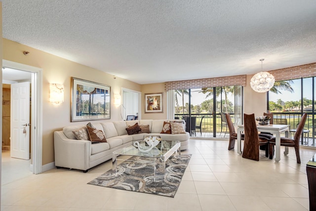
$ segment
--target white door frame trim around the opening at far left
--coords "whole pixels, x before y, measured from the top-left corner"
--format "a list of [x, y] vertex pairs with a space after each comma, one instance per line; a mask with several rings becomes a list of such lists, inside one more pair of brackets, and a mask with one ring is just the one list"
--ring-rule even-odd
[[[2, 67], [27, 71], [32, 73], [31, 80], [31, 164], [30, 171], [34, 174], [42, 170], [42, 69], [17, 62], [2, 60]], [[1, 69], [2, 74], [2, 69]], [[1, 82], [2, 83], [2, 82]], [[2, 116], [2, 115], [1, 115]], [[2, 154], [2, 152], [1, 152]]]

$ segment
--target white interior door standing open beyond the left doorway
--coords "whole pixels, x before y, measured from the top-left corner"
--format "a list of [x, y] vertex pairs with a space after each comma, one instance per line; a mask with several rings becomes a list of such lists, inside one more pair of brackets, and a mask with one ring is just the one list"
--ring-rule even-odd
[[30, 159], [30, 82], [11, 84], [12, 158]]

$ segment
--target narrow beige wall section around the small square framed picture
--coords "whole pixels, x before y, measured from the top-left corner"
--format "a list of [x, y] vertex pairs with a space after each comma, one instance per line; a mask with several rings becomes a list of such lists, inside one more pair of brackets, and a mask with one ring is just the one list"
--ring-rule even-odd
[[[167, 119], [167, 92], [164, 91], [164, 83], [143, 84], [142, 91], [142, 119], [143, 120], [162, 120]], [[145, 114], [145, 94], [162, 93], [162, 113], [146, 113]]]

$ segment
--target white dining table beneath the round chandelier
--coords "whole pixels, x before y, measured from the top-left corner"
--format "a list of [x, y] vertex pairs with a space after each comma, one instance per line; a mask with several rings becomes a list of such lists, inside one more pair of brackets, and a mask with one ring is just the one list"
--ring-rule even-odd
[[[290, 126], [288, 125], [257, 125], [257, 129], [260, 132], [270, 132], [276, 135], [276, 158], [275, 161], [280, 161], [281, 151], [281, 133], [285, 132], [285, 137], [288, 137]], [[241, 155], [241, 132], [244, 131], [243, 125], [237, 126], [237, 152]], [[288, 154], [288, 147], [285, 147], [284, 155]]]

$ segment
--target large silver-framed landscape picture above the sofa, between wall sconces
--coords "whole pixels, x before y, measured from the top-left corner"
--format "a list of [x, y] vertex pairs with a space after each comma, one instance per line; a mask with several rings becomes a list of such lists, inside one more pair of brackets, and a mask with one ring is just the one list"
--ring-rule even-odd
[[111, 86], [72, 78], [71, 121], [111, 119]]

